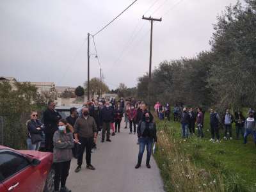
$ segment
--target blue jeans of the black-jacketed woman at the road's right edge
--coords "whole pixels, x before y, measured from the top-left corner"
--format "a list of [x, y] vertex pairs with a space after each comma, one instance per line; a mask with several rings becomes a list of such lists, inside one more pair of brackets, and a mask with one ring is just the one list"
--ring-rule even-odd
[[139, 156], [138, 156], [138, 164], [141, 164], [143, 153], [144, 153], [146, 146], [147, 146], [147, 161], [146, 161], [146, 163], [149, 164], [150, 157], [151, 157], [151, 151], [152, 151], [153, 139], [141, 137], [141, 138], [139, 138], [139, 143], [140, 143], [140, 151], [139, 151]]

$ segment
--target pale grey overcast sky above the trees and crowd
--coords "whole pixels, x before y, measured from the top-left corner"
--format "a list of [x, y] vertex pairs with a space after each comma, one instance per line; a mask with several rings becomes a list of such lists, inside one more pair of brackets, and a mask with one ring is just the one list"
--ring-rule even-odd
[[[96, 33], [133, 0], [1, 0], [0, 76], [78, 86], [87, 79], [87, 33]], [[179, 4], [177, 4], [179, 3]], [[209, 50], [212, 24], [236, 0], [138, 0], [95, 36], [104, 81], [136, 86], [148, 72], [150, 22], [154, 22], [152, 65]], [[148, 8], [150, 8], [148, 10]], [[90, 40], [90, 77], [100, 77]]]

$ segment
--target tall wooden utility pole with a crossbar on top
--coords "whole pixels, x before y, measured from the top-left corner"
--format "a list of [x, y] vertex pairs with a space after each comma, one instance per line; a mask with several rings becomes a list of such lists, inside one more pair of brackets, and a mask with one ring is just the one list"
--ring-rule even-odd
[[153, 36], [153, 21], [162, 21], [160, 19], [154, 19], [150, 17], [142, 16], [142, 19], [150, 20], [151, 22], [151, 33], [150, 33], [150, 52], [149, 52], [149, 72], [148, 72], [148, 109], [150, 110], [150, 85], [151, 85], [151, 66], [152, 66], [152, 36]]

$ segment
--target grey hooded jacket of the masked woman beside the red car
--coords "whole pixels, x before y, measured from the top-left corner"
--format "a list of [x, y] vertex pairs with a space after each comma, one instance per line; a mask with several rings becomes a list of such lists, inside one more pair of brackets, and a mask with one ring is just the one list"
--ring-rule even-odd
[[72, 148], [74, 147], [74, 138], [72, 132], [54, 132], [53, 146], [54, 163], [70, 161], [73, 157]]

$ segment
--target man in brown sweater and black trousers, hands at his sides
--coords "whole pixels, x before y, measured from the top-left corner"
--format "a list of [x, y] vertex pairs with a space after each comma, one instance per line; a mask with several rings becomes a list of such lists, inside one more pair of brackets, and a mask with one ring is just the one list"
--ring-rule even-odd
[[95, 170], [91, 163], [91, 152], [93, 141], [97, 140], [98, 129], [94, 118], [89, 115], [89, 109], [83, 108], [82, 112], [83, 117], [77, 118], [74, 125], [75, 142], [79, 143], [76, 173], [81, 170], [84, 149], [86, 150], [86, 168]]

